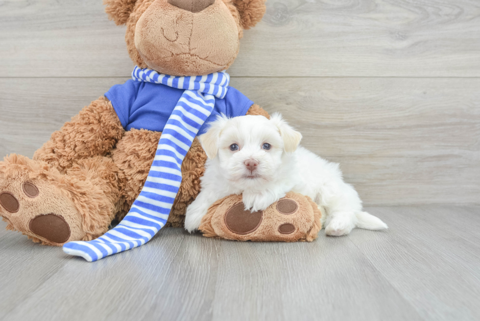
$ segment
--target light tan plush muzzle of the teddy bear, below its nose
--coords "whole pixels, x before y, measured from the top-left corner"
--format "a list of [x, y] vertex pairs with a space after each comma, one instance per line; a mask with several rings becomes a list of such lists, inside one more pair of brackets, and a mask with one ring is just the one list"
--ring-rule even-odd
[[134, 37], [148, 68], [176, 76], [225, 70], [237, 56], [239, 40], [238, 25], [222, 0], [155, 0], [137, 21]]

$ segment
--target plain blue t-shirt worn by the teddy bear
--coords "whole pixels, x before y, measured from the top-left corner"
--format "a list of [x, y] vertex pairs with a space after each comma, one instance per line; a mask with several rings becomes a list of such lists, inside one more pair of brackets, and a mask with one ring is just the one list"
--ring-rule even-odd
[[[184, 91], [162, 84], [130, 79], [122, 85], [114, 85], [105, 97], [112, 102], [125, 130], [135, 128], [162, 131]], [[207, 123], [215, 121], [220, 113], [228, 117], [243, 116], [251, 105], [253, 101], [229, 86], [225, 98], [215, 98], [215, 108], [200, 127], [198, 135], [203, 134]]]

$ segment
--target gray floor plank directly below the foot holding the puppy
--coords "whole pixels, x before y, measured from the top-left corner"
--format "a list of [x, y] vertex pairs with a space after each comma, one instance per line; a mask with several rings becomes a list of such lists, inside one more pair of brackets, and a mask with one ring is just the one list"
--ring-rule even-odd
[[346, 238], [223, 242], [213, 320], [421, 320]]

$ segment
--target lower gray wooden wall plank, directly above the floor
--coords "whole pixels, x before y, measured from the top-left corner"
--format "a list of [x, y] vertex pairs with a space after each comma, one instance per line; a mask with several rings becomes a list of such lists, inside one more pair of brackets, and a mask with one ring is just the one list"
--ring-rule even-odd
[[[126, 78], [0, 79], [0, 154], [33, 152]], [[232, 78], [303, 145], [339, 162], [365, 204], [479, 203], [479, 78]]]

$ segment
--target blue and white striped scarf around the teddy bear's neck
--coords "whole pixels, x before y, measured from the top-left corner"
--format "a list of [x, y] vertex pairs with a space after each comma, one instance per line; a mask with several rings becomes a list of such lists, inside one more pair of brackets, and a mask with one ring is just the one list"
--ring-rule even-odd
[[89, 262], [144, 245], [165, 225], [182, 181], [182, 161], [198, 130], [212, 113], [215, 97], [225, 97], [230, 81], [225, 72], [177, 77], [138, 67], [132, 78], [185, 91], [168, 118], [144, 187], [128, 214], [96, 240], [69, 242], [63, 246], [65, 253]]

